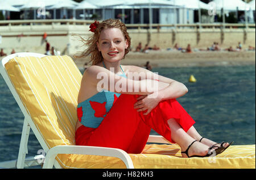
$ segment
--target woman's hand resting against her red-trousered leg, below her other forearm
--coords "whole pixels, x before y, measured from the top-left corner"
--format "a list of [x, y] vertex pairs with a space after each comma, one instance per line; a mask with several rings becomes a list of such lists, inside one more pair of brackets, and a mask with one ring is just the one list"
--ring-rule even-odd
[[141, 97], [137, 98], [138, 102], [134, 103], [134, 108], [138, 109], [138, 112], [147, 110], [147, 112], [143, 113], [143, 115], [149, 114], [151, 110], [154, 109], [161, 101], [161, 98], [157, 93], [158, 92], [142, 95]]

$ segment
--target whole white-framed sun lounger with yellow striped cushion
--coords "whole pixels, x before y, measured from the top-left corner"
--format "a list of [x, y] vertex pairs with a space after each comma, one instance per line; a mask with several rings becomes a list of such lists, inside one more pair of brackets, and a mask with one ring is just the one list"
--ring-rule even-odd
[[[69, 56], [15, 53], [3, 58], [0, 72], [24, 114], [18, 160], [3, 168], [255, 168], [255, 145], [232, 145], [216, 157], [182, 158], [180, 148], [150, 136], [141, 154], [75, 145], [77, 95], [82, 75]], [[26, 157], [30, 128], [43, 148]], [[43, 154], [46, 153], [44, 157]]]

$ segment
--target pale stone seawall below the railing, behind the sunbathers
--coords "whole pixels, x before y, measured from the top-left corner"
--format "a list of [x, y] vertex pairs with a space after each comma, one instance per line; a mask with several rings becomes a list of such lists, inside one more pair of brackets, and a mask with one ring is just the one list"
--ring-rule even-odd
[[[16, 52], [37, 52], [45, 53], [46, 43], [43, 39], [44, 32], [47, 33], [47, 40], [52, 47], [55, 47], [61, 54], [71, 55], [85, 49], [81, 41], [73, 34], [82, 37], [92, 35], [89, 26], [77, 24], [42, 24], [42, 25], [18, 25], [0, 26], [0, 48], [3, 48], [7, 55], [12, 49]], [[221, 48], [232, 46], [235, 48], [241, 42], [244, 48], [249, 45], [255, 47], [255, 28], [160, 28], [153, 29], [151, 34], [146, 29], [129, 29], [131, 47], [135, 49], [139, 42], [144, 46], [148, 43], [151, 47], [156, 44], [161, 49], [173, 48], [175, 43], [180, 47], [207, 48], [214, 41], [218, 42]]]

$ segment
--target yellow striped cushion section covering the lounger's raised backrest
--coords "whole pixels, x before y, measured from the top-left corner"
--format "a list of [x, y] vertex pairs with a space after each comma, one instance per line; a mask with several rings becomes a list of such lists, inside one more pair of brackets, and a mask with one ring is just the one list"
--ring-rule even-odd
[[[82, 75], [69, 56], [15, 57], [7, 73], [48, 148], [75, 145]], [[57, 158], [65, 164], [65, 155]]]

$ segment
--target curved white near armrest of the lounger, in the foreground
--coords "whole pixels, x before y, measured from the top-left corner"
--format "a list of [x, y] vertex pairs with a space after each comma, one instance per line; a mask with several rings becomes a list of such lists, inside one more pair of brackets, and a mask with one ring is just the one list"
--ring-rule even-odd
[[53, 167], [53, 163], [57, 154], [87, 154], [117, 157], [125, 163], [127, 169], [134, 169], [131, 157], [122, 149], [81, 145], [57, 145], [49, 149], [46, 154], [46, 161], [43, 165], [44, 169], [51, 169]]

